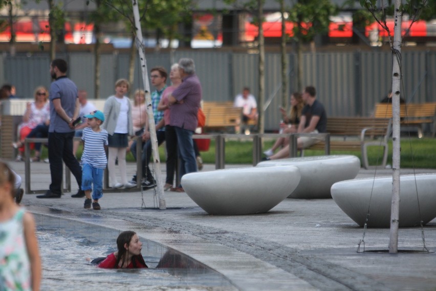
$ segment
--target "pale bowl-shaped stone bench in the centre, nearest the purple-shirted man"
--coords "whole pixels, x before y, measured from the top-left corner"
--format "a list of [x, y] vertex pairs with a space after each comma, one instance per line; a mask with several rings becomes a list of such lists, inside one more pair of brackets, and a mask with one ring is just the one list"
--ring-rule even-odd
[[225, 169], [182, 177], [186, 194], [213, 215], [265, 213], [286, 199], [300, 181], [293, 166]]

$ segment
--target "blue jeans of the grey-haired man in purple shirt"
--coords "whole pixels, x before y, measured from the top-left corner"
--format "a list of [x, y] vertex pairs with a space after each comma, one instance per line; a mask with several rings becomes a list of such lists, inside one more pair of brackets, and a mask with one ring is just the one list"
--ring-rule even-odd
[[180, 157], [180, 179], [183, 175], [197, 172], [197, 160], [195, 160], [194, 142], [191, 130], [174, 127], [177, 134], [177, 146]]

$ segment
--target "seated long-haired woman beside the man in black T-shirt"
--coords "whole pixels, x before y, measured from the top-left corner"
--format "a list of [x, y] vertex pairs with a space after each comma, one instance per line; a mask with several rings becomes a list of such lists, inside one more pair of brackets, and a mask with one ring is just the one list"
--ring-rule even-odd
[[[303, 98], [301, 93], [294, 92], [291, 95], [291, 110], [289, 111], [289, 115], [286, 115], [285, 109], [280, 107], [280, 113], [283, 116], [284, 123], [280, 124], [280, 131], [283, 133], [296, 133], [298, 129], [298, 123], [300, 123], [301, 111], [304, 107]], [[275, 150], [278, 148], [284, 148], [289, 144], [289, 138], [279, 137], [273, 147], [264, 152], [267, 157], [270, 157], [274, 154]]]

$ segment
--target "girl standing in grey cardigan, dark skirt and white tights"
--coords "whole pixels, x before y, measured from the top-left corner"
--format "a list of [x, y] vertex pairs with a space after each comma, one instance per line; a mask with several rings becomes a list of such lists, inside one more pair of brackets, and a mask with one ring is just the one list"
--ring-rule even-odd
[[[128, 145], [128, 136], [132, 136], [132, 105], [130, 100], [125, 96], [129, 88], [129, 82], [126, 79], [119, 79], [115, 82], [115, 95], [107, 98], [104, 103], [104, 128], [108, 140], [108, 160], [107, 169], [111, 179], [112, 188], [133, 188], [136, 185], [127, 182], [126, 173], [126, 148]], [[115, 160], [118, 158], [118, 167], [121, 174], [121, 183], [117, 181], [115, 175]]]

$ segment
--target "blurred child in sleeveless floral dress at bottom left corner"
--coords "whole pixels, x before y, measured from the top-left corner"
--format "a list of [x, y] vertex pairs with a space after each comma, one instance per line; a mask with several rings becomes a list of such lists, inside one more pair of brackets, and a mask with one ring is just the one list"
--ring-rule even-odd
[[15, 175], [0, 161], [0, 289], [38, 291], [41, 259], [32, 214], [15, 203]]

